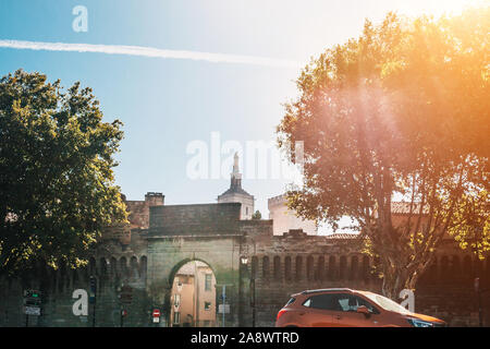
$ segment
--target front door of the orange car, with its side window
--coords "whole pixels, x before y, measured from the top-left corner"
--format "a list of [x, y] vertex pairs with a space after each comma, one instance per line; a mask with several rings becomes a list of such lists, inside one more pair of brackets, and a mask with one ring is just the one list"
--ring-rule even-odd
[[[338, 327], [377, 327], [379, 312], [372, 304], [368, 303], [364, 299], [351, 294], [351, 293], [338, 293], [335, 310], [332, 312], [332, 316], [336, 321]], [[334, 302], [335, 302], [334, 301]], [[360, 305], [367, 306], [371, 313], [366, 316], [365, 314], [357, 313], [357, 308]]]

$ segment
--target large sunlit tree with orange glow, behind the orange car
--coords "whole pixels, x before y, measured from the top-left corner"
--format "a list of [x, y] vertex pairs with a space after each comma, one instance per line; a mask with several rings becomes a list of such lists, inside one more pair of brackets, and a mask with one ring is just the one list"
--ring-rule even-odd
[[[291, 144], [304, 142], [290, 207], [357, 221], [392, 299], [415, 288], [448, 233], [464, 245], [473, 237], [461, 228], [478, 216], [488, 237], [489, 21], [489, 9], [367, 21], [359, 38], [306, 65], [278, 127], [291, 161]], [[405, 219], [393, 221], [393, 201], [405, 202]]]

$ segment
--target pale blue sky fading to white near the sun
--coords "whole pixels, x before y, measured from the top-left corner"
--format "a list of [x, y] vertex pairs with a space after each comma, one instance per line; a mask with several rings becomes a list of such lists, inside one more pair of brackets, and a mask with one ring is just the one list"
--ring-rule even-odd
[[[124, 123], [114, 172], [128, 200], [162, 192], [166, 204], [212, 203], [230, 180], [189, 178], [192, 142], [210, 145], [212, 132], [244, 146], [274, 141], [310, 57], [358, 36], [365, 19], [441, 15], [466, 2], [0, 0], [0, 76], [22, 68], [91, 87], [105, 121]], [[86, 32], [73, 28], [77, 5], [87, 10]], [[244, 177], [243, 186], [267, 218], [267, 198], [289, 182]]]

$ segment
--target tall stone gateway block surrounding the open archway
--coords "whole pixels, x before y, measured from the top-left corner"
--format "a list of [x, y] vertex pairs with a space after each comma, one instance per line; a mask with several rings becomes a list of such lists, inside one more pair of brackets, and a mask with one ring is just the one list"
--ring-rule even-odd
[[147, 291], [154, 302], [162, 304], [168, 324], [174, 322], [175, 275], [191, 261], [208, 265], [216, 278], [215, 324], [222, 325], [223, 320], [225, 325], [243, 324], [241, 305], [248, 294], [241, 291], [246, 273], [241, 267], [240, 215], [236, 203], [150, 207]]

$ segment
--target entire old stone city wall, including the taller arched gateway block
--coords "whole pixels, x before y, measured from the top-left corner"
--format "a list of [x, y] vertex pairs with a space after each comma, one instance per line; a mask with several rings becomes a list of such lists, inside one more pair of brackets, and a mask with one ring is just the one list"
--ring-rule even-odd
[[[257, 326], [273, 326], [290, 296], [307, 289], [381, 290], [381, 279], [372, 270], [376, 261], [360, 252], [362, 241], [353, 236], [307, 236], [302, 230], [273, 236], [272, 220], [241, 220], [241, 206], [233, 203], [163, 206], [158, 193], [131, 203], [131, 225], [107, 229], [86, 267], [52, 270], [39, 266], [23, 280], [1, 279], [0, 326], [26, 325], [22, 292], [28, 288], [44, 293], [42, 316], [29, 316], [29, 326], [91, 326], [93, 305], [87, 318], [72, 312], [73, 291], [88, 290], [90, 276], [98, 285], [96, 326], [121, 325], [118, 296], [122, 285], [134, 292], [123, 325], [154, 326], [150, 313], [159, 308], [163, 326], [170, 315], [173, 277], [193, 260], [213, 270], [216, 304], [221, 303], [225, 287], [231, 308], [225, 316], [228, 326], [252, 326], [254, 318]], [[482, 288], [490, 289], [489, 262], [475, 261], [445, 240], [436, 263], [417, 285], [416, 311], [450, 325], [478, 325], [476, 275], [481, 277]], [[488, 293], [482, 301], [485, 325], [490, 326]], [[217, 318], [221, 325], [221, 314]]]

